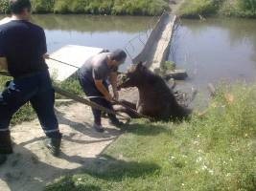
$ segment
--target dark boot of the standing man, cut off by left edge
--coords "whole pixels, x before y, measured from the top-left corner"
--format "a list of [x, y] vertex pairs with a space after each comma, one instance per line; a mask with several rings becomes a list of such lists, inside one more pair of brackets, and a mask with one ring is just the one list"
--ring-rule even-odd
[[4, 164], [8, 155], [12, 154], [12, 139], [9, 131], [0, 133], [0, 165]]

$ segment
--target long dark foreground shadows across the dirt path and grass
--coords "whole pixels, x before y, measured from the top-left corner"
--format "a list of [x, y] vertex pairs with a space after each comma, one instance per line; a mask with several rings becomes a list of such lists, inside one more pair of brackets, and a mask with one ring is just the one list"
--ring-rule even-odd
[[[45, 150], [48, 152], [48, 150]], [[46, 154], [48, 155], [48, 154]], [[152, 162], [126, 161], [114, 159], [110, 156], [99, 156], [98, 158], [83, 158], [80, 156], [69, 156], [61, 153], [60, 159], [73, 164], [79, 164], [74, 169], [65, 166], [56, 166], [51, 162], [46, 163], [39, 159], [31, 150], [14, 145], [14, 154], [9, 156], [8, 161], [1, 166], [0, 180], [6, 182], [7, 187], [12, 190], [41, 190], [49, 183], [61, 176], [62, 179], [47, 185], [47, 191], [100, 191], [101, 187], [84, 179], [80, 182], [72, 175], [80, 174], [90, 176], [95, 180], [109, 182], [121, 181], [125, 178], [139, 178], [155, 174], [160, 167]]]

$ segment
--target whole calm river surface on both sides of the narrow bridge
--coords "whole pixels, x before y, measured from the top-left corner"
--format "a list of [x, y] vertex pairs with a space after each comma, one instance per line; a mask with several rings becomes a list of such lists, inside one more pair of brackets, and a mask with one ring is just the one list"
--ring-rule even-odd
[[[0, 15], [0, 19], [3, 17]], [[45, 30], [49, 53], [72, 44], [109, 50], [126, 48], [131, 57], [143, 48], [156, 19], [145, 16], [33, 15], [33, 22]], [[254, 81], [256, 20], [184, 19], [175, 32], [169, 59], [175, 61], [177, 68], [186, 69], [190, 76], [188, 82], [199, 88], [221, 80]], [[129, 63], [130, 59], [121, 70], [125, 71]]]

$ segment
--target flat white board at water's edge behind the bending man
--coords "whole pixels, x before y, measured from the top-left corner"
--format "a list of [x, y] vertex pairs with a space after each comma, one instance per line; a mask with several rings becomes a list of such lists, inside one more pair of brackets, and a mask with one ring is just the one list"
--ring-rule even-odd
[[52, 77], [55, 80], [64, 81], [72, 74], [75, 74], [79, 70], [78, 68], [81, 68], [88, 58], [101, 53], [103, 50], [104, 49], [101, 48], [67, 45], [59, 49], [57, 52], [51, 53], [50, 57], [67, 64], [74, 65], [75, 67], [68, 66], [51, 59], [47, 59], [46, 63]]

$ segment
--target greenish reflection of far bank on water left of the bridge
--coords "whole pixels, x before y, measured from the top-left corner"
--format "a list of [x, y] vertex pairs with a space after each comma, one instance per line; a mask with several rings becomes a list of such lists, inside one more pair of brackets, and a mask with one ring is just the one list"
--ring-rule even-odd
[[33, 21], [45, 30], [74, 32], [142, 32], [150, 25], [151, 19], [147, 16], [33, 15]]

